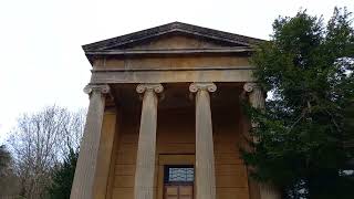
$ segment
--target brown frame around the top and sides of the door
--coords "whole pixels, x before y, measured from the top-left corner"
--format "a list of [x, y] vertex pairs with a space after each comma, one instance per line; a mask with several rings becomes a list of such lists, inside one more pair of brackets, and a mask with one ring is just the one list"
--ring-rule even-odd
[[[194, 154], [158, 155], [157, 199], [164, 199], [164, 175], [165, 175], [165, 166], [167, 165], [194, 165], [196, 169], [196, 156]], [[195, 185], [196, 185], [196, 181], [195, 181]], [[194, 187], [194, 190], [195, 190], [195, 187]]]

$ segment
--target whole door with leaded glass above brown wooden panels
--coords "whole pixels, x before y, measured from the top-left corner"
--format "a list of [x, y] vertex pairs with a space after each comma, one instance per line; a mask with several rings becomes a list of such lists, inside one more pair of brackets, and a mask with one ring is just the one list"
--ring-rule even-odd
[[192, 165], [166, 165], [164, 199], [194, 198], [195, 168]]

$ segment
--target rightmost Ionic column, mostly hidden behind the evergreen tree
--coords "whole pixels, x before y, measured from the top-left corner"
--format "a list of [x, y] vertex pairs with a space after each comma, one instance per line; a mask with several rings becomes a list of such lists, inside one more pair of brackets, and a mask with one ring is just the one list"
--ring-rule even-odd
[[[249, 102], [254, 108], [264, 108], [264, 94], [261, 87], [256, 83], [246, 83], [243, 90], [249, 93]], [[252, 123], [252, 127], [257, 124]], [[257, 137], [253, 137], [253, 142], [258, 142]], [[280, 192], [269, 184], [259, 182], [260, 199], [281, 199]]]

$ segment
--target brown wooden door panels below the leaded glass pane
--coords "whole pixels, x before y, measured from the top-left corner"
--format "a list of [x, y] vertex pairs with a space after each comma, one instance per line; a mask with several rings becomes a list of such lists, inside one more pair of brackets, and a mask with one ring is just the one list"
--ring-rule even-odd
[[192, 199], [192, 185], [165, 185], [164, 199]]

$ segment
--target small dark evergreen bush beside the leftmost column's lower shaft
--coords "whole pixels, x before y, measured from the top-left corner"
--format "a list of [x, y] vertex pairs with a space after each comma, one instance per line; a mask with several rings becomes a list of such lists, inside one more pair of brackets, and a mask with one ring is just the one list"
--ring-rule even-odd
[[53, 181], [49, 187], [51, 199], [70, 199], [79, 151], [70, 149], [64, 161], [53, 171]]

